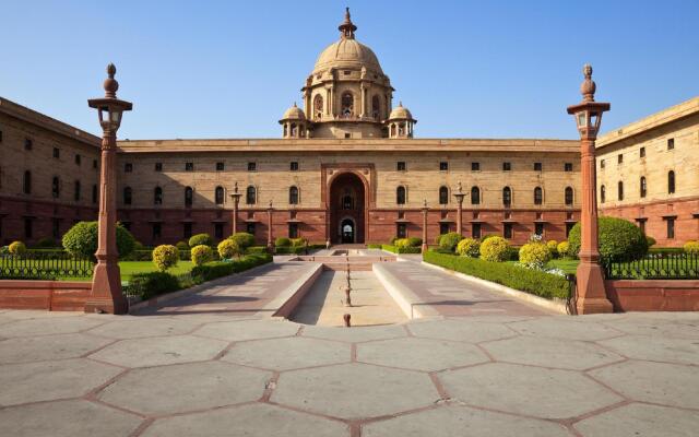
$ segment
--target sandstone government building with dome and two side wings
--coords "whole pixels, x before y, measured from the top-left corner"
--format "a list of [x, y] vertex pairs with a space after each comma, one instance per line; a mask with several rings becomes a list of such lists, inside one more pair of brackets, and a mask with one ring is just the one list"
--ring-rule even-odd
[[[430, 244], [453, 231], [516, 245], [532, 234], [566, 239], [580, 212], [578, 140], [416, 138], [417, 119], [393, 102], [394, 84], [348, 12], [339, 31], [300, 105], [279, 120], [280, 139], [118, 143], [118, 217], [137, 239], [249, 232], [260, 244], [270, 233], [386, 243], [422, 237], [424, 209]], [[96, 220], [99, 144], [0, 98], [0, 241], [58, 240]], [[661, 246], [699, 238], [699, 98], [597, 145], [604, 214], [635, 221]]]

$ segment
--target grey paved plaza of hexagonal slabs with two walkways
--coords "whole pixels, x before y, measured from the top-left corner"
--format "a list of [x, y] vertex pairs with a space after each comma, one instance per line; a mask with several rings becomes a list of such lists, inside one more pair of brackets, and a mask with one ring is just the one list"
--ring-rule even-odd
[[[391, 264], [443, 274], [418, 267]], [[697, 435], [699, 314], [550, 315], [450, 276], [441, 315], [395, 324], [257, 310], [301, 270], [135, 316], [1, 311], [0, 435]]]

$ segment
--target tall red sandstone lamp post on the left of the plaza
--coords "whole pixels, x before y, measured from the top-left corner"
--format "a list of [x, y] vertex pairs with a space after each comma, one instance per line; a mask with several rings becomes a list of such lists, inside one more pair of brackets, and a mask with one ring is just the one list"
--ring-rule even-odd
[[102, 126], [102, 169], [99, 172], [99, 218], [97, 236], [97, 265], [92, 279], [92, 292], [85, 303], [85, 312], [125, 314], [128, 303], [121, 293], [119, 252], [117, 251], [117, 130], [121, 115], [131, 110], [130, 102], [117, 98], [119, 83], [114, 79], [117, 68], [107, 66], [104, 98], [87, 101], [97, 109]]

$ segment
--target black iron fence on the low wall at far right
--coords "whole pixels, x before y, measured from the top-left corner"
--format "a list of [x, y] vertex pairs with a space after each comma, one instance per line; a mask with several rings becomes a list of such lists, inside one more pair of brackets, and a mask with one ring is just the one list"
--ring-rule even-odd
[[604, 261], [608, 280], [699, 280], [699, 255], [648, 253], [633, 261]]

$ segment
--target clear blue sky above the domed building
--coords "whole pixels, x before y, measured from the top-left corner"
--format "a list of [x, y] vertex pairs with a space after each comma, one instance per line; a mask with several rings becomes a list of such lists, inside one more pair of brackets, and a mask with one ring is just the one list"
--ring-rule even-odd
[[117, 64], [120, 138], [279, 138], [350, 5], [422, 138], [576, 138], [594, 67], [611, 130], [698, 95], [699, 1], [5, 1], [0, 96], [91, 132]]

